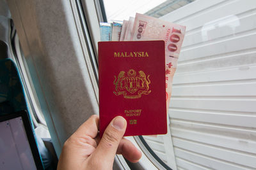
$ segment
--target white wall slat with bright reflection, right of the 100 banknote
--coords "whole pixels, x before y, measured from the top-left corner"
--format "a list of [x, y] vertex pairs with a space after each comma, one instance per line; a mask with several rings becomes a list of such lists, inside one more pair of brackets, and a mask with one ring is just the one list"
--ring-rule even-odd
[[196, 32], [186, 34], [182, 49], [188, 46], [199, 45], [205, 41], [212, 41], [219, 38], [230, 38], [230, 36], [238, 36], [241, 32], [255, 29], [254, 22], [256, 21], [255, 10], [246, 11], [241, 15], [229, 15], [205, 24], [202, 29]]

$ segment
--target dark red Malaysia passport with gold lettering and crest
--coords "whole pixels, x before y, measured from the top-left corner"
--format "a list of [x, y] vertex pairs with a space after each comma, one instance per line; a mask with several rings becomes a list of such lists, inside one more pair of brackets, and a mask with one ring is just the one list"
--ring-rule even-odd
[[99, 42], [100, 137], [116, 116], [124, 136], [167, 133], [164, 41]]

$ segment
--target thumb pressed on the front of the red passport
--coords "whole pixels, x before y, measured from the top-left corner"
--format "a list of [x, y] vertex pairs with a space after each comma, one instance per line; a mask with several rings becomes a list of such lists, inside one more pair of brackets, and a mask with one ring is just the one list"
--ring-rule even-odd
[[116, 150], [126, 129], [126, 120], [123, 117], [115, 117], [106, 128], [97, 149], [93, 153], [94, 159], [106, 162], [103, 167], [113, 166]]

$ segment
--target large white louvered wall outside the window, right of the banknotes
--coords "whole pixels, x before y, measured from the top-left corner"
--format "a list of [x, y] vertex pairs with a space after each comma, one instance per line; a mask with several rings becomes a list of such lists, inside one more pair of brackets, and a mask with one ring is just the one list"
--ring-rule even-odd
[[256, 169], [256, 1], [197, 0], [163, 19], [187, 26], [169, 108], [177, 169]]

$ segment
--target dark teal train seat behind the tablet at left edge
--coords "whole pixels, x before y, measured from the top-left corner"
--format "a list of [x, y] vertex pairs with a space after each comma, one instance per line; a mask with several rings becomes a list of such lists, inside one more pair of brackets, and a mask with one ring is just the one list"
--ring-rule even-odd
[[[11, 59], [0, 60], [0, 115], [22, 110], [26, 110], [29, 113], [19, 71]], [[29, 119], [34, 130], [30, 114]], [[45, 148], [42, 139], [38, 138], [36, 134], [35, 139], [45, 169], [52, 169], [51, 153]]]

